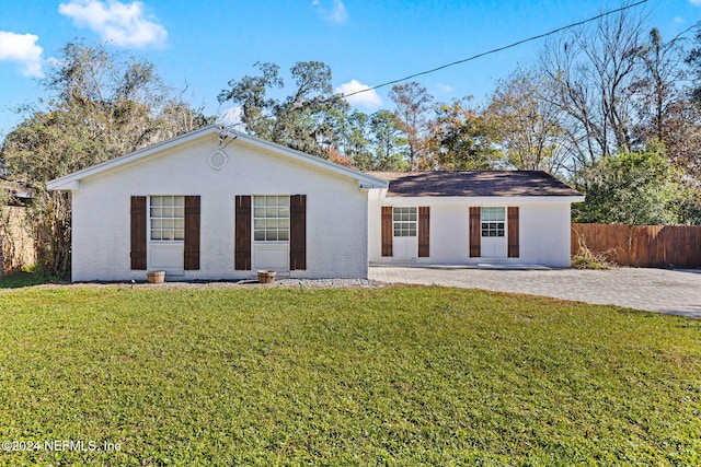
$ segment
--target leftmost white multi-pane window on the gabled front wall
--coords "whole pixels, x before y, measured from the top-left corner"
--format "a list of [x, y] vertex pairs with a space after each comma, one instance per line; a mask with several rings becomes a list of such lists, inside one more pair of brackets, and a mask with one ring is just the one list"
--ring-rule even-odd
[[149, 196], [149, 241], [185, 241], [185, 196]]

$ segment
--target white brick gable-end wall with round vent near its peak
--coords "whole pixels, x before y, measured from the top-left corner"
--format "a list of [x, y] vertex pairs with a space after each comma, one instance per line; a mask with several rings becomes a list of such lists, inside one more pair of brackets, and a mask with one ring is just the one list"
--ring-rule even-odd
[[299, 278], [367, 277], [367, 191], [357, 180], [234, 140], [228, 164], [207, 157], [216, 136], [81, 180], [73, 191], [72, 280], [143, 280], [130, 270], [130, 197], [199, 195], [200, 269], [183, 280], [243, 279], [233, 269], [234, 197], [307, 195], [307, 270]]

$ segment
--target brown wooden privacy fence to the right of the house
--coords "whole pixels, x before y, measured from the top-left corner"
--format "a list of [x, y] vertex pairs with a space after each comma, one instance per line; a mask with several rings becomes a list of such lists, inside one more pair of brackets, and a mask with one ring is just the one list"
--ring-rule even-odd
[[579, 246], [620, 266], [701, 267], [701, 226], [572, 224], [572, 255]]

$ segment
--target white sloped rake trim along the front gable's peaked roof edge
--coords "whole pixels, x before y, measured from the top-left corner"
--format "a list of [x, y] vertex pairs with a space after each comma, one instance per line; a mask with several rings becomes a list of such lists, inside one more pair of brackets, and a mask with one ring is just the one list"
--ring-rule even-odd
[[181, 135], [170, 140], [150, 145], [148, 148], [140, 149], [129, 154], [120, 155], [116, 159], [112, 159], [101, 164], [96, 164], [88, 168], [83, 168], [82, 171], [73, 172], [72, 174], [68, 174], [60, 178], [53, 179], [46, 184], [46, 188], [49, 190], [78, 189], [80, 180], [82, 178], [91, 177], [93, 175], [97, 175], [103, 172], [111, 171], [122, 165], [140, 161], [142, 159], [161, 153], [169, 149], [176, 148], [181, 144], [186, 144], [188, 142], [195, 141], [197, 139], [206, 138], [212, 135], [217, 135], [217, 137], [219, 137], [220, 140], [223, 140], [227, 138], [230, 138], [231, 140], [239, 140], [240, 142], [244, 142], [257, 148], [266, 149], [277, 154], [281, 154], [290, 159], [294, 159], [296, 161], [300, 161], [320, 168], [331, 171], [340, 175], [355, 178], [358, 180], [358, 184], [361, 188], [387, 188], [387, 185], [388, 185], [387, 180], [382, 178], [378, 178], [374, 175], [358, 172], [356, 170], [348, 168], [344, 165], [336, 164], [334, 162], [326, 161], [324, 159], [317, 157], [314, 155], [307, 154], [300, 151], [296, 151], [294, 149], [289, 149], [279, 144], [275, 144], [269, 141], [264, 141], [262, 139], [252, 137], [250, 135], [240, 133], [233, 130], [228, 130], [226, 128], [222, 128], [219, 125], [209, 125], [207, 127], [199, 128], [197, 130], [191, 131], [185, 135]]

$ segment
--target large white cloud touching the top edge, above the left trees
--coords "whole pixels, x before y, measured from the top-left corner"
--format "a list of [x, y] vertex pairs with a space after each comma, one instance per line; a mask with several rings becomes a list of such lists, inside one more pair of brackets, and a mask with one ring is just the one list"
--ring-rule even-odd
[[168, 32], [147, 15], [143, 3], [122, 3], [116, 0], [70, 0], [58, 5], [58, 12], [73, 20], [79, 27], [89, 27], [103, 40], [120, 47], [162, 46]]

